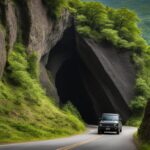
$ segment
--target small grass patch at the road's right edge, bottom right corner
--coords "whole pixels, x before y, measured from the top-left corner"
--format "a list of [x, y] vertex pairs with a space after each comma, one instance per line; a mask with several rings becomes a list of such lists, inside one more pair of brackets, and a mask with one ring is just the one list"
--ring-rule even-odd
[[137, 133], [134, 134], [134, 141], [138, 150], [150, 150], [150, 143], [140, 141]]

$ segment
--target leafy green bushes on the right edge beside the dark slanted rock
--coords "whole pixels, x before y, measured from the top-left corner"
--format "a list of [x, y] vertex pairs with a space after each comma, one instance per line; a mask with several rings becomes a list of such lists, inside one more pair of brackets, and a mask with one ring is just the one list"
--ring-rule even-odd
[[[135, 97], [135, 102], [133, 102], [133, 104], [135, 104], [135, 106], [132, 106], [132, 109], [134, 111], [135, 108], [137, 108], [137, 111], [141, 111], [141, 113], [143, 113], [143, 110], [145, 108], [146, 103], [148, 102], [148, 100], [150, 99], [150, 54], [149, 54], [149, 50], [144, 49], [144, 51], [142, 52], [142, 55], [139, 56], [139, 54], [134, 54], [133, 55], [133, 60], [136, 63], [137, 66], [137, 70], [138, 70], [138, 74], [137, 74], [137, 79], [136, 79], [136, 97]], [[142, 101], [140, 100], [142, 98]], [[139, 102], [139, 106], [138, 103]], [[143, 108], [142, 108], [143, 107]]]

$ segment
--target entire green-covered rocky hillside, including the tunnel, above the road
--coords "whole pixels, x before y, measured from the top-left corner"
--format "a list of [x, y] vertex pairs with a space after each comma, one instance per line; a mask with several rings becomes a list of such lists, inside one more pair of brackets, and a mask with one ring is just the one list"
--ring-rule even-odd
[[103, 112], [139, 125], [150, 47], [138, 21], [99, 2], [0, 1], [0, 143], [77, 134]]

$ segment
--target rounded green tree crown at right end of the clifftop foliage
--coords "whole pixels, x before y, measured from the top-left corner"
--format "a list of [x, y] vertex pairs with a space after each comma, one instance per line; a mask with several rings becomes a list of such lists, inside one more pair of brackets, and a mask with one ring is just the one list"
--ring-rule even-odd
[[118, 31], [121, 38], [133, 41], [139, 37], [140, 30], [137, 26], [138, 16], [128, 9], [109, 9], [108, 16], [114, 22], [114, 29]]

